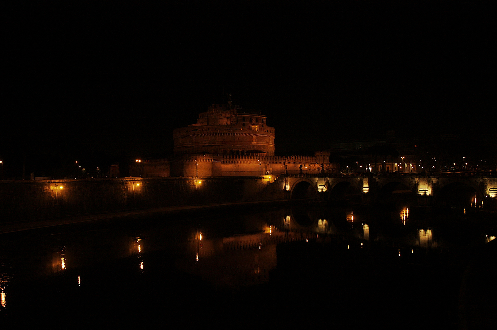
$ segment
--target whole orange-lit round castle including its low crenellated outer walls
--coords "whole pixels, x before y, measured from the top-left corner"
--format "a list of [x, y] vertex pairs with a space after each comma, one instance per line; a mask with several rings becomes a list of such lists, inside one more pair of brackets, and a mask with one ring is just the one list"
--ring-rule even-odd
[[[129, 166], [130, 176], [206, 177], [336, 172], [329, 152], [315, 156], [274, 156], [274, 127], [265, 115], [231, 104], [212, 105], [197, 123], [173, 130], [174, 155]], [[110, 176], [119, 176], [118, 165]]]

